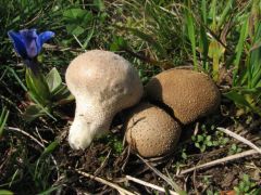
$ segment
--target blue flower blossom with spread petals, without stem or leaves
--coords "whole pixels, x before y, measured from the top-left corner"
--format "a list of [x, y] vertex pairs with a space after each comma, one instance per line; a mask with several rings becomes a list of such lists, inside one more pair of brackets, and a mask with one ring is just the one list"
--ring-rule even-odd
[[37, 35], [36, 29], [23, 29], [18, 32], [8, 32], [17, 54], [25, 61], [34, 60], [41, 51], [42, 44], [54, 36], [52, 31], [45, 31]]

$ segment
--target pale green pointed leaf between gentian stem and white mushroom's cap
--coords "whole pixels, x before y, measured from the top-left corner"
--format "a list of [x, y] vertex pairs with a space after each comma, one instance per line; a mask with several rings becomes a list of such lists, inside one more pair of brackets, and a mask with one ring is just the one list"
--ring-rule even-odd
[[53, 67], [46, 76], [46, 82], [51, 93], [62, 84], [62, 78], [55, 67]]

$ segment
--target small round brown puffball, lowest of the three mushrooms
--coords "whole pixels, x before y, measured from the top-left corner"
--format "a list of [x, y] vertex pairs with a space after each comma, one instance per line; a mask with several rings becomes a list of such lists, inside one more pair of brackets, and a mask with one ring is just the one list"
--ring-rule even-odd
[[144, 157], [171, 153], [181, 135], [178, 122], [149, 103], [140, 103], [130, 110], [125, 128], [127, 143]]

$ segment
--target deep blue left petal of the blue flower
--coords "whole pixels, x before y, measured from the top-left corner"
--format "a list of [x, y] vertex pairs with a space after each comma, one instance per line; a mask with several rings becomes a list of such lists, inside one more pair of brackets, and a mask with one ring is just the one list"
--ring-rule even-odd
[[13, 41], [14, 50], [16, 53], [20, 54], [23, 58], [27, 58], [28, 56], [22, 36], [18, 32], [14, 32], [13, 30], [8, 31], [8, 35]]

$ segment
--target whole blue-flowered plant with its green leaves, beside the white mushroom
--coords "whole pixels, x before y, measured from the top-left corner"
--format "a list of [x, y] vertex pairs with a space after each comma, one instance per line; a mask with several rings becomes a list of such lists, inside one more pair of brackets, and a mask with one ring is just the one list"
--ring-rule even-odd
[[36, 29], [23, 29], [18, 32], [10, 30], [8, 34], [26, 67], [25, 80], [30, 104], [24, 113], [24, 118], [32, 121], [48, 115], [55, 120], [53, 115], [58, 116], [59, 113], [54, 108], [71, 102], [73, 96], [62, 82], [57, 68], [52, 68], [45, 76], [37, 60], [44, 43], [52, 38], [54, 32], [45, 31], [38, 35]]

